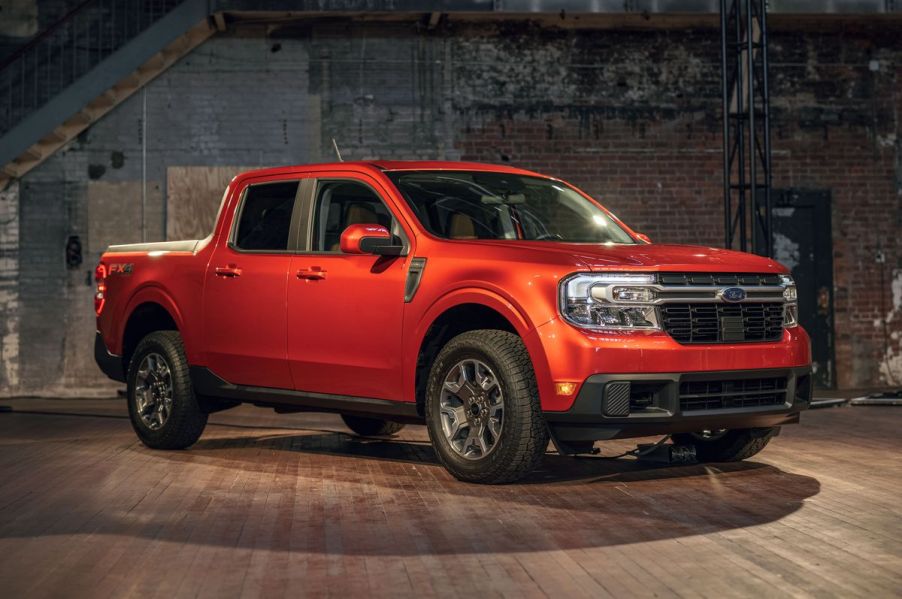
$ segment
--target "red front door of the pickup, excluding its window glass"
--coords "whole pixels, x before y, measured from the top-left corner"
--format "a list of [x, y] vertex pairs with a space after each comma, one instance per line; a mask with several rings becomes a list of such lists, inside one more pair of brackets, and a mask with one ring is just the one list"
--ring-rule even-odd
[[364, 175], [317, 181], [307, 248], [288, 277], [288, 359], [295, 389], [401, 399], [401, 325], [406, 256], [343, 254], [351, 224], [398, 221]]

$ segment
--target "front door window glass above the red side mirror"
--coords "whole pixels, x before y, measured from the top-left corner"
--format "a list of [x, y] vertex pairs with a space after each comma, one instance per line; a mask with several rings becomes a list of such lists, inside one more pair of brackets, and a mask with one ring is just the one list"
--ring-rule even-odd
[[396, 229], [382, 199], [356, 181], [320, 181], [313, 223], [314, 252], [339, 251], [341, 233], [350, 225], [382, 225], [392, 232]]

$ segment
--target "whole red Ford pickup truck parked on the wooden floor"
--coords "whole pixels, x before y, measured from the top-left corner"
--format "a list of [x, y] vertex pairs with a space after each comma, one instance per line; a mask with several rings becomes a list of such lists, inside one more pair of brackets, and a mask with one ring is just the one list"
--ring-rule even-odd
[[672, 435], [740, 460], [811, 397], [796, 287], [767, 258], [652, 244], [559, 179], [463, 162], [344, 162], [229, 184], [198, 241], [110, 247], [95, 357], [149, 447], [209, 413], [425, 422], [456, 477], [516, 480], [549, 439]]

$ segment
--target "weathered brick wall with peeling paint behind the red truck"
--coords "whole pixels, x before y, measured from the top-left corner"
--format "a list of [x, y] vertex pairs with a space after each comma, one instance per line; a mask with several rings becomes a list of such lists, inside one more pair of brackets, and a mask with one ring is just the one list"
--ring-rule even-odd
[[[720, 245], [717, 31], [569, 25], [328, 20], [220, 35], [147, 88], [148, 182], [165, 198], [170, 166], [331, 160], [334, 136], [346, 159], [558, 175], [656, 241]], [[772, 25], [774, 183], [832, 194], [845, 387], [902, 381], [900, 33], [891, 21]], [[102, 381], [71, 355], [92, 349], [80, 345], [97, 255], [67, 271], [63, 245], [79, 234], [90, 247], [90, 182], [140, 181], [144, 119], [139, 93], [21, 182], [19, 307], [0, 301], [18, 323], [17, 391]], [[137, 240], [134, 205], [105, 209]]]

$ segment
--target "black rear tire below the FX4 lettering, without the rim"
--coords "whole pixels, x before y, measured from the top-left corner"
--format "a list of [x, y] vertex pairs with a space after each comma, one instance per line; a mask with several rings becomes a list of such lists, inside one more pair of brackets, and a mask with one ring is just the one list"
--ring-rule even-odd
[[[162, 357], [171, 381], [171, 405], [168, 417], [151, 428], [139, 414], [138, 378], [145, 358]], [[200, 438], [207, 425], [207, 414], [194, 396], [188, 360], [181, 335], [176, 331], [156, 331], [138, 343], [128, 367], [128, 414], [138, 438], [153, 449], [184, 449]]]

